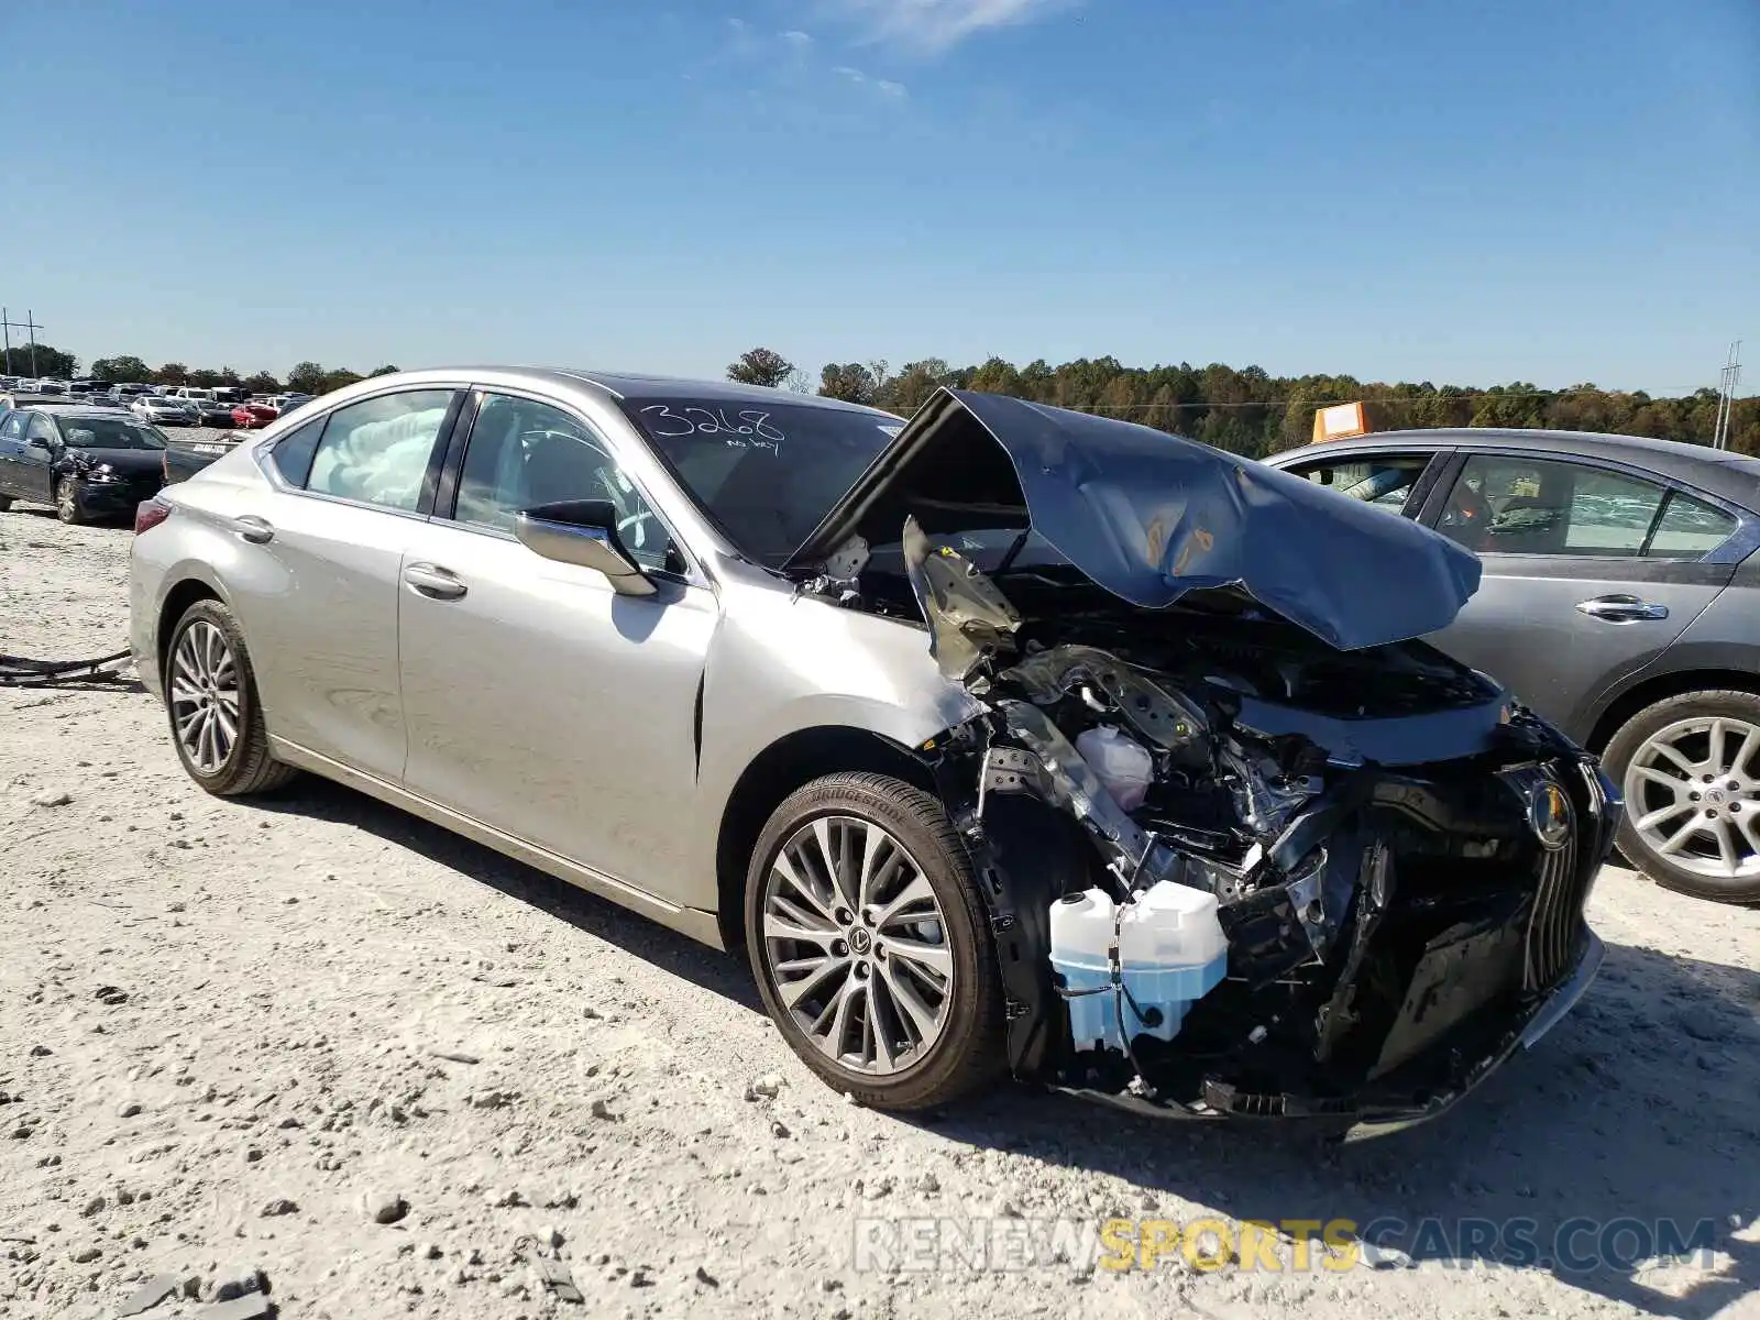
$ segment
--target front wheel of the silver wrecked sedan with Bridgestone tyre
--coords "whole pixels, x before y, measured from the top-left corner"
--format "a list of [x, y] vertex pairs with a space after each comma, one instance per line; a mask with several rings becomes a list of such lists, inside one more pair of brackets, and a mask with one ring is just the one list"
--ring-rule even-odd
[[984, 913], [947, 811], [885, 774], [794, 792], [746, 873], [764, 1007], [813, 1072], [875, 1109], [931, 1109], [1003, 1072]]

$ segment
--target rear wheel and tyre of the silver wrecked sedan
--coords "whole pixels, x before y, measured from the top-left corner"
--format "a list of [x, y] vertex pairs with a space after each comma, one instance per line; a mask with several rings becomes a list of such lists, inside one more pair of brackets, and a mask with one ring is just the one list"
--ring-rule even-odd
[[297, 773], [269, 755], [257, 679], [232, 611], [197, 600], [165, 649], [165, 711], [183, 769], [222, 797], [268, 792]]

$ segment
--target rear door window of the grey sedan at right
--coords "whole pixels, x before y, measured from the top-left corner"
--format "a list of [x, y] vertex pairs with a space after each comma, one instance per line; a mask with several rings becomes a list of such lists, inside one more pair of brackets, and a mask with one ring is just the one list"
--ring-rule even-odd
[[1438, 532], [1480, 554], [1630, 558], [1667, 488], [1582, 463], [1475, 454], [1448, 493]]

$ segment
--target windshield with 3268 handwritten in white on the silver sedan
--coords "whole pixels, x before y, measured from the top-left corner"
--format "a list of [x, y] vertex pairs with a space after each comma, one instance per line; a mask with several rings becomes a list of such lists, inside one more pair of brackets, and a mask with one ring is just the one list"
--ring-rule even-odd
[[885, 414], [815, 403], [634, 398], [621, 407], [734, 547], [771, 568], [903, 428]]

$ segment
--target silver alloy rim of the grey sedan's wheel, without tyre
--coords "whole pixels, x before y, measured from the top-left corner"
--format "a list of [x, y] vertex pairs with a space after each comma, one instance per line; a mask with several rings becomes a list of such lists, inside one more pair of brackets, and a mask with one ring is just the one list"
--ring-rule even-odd
[[1658, 857], [1718, 878], [1760, 875], [1760, 725], [1695, 716], [1658, 729], [1626, 767], [1632, 829]]

